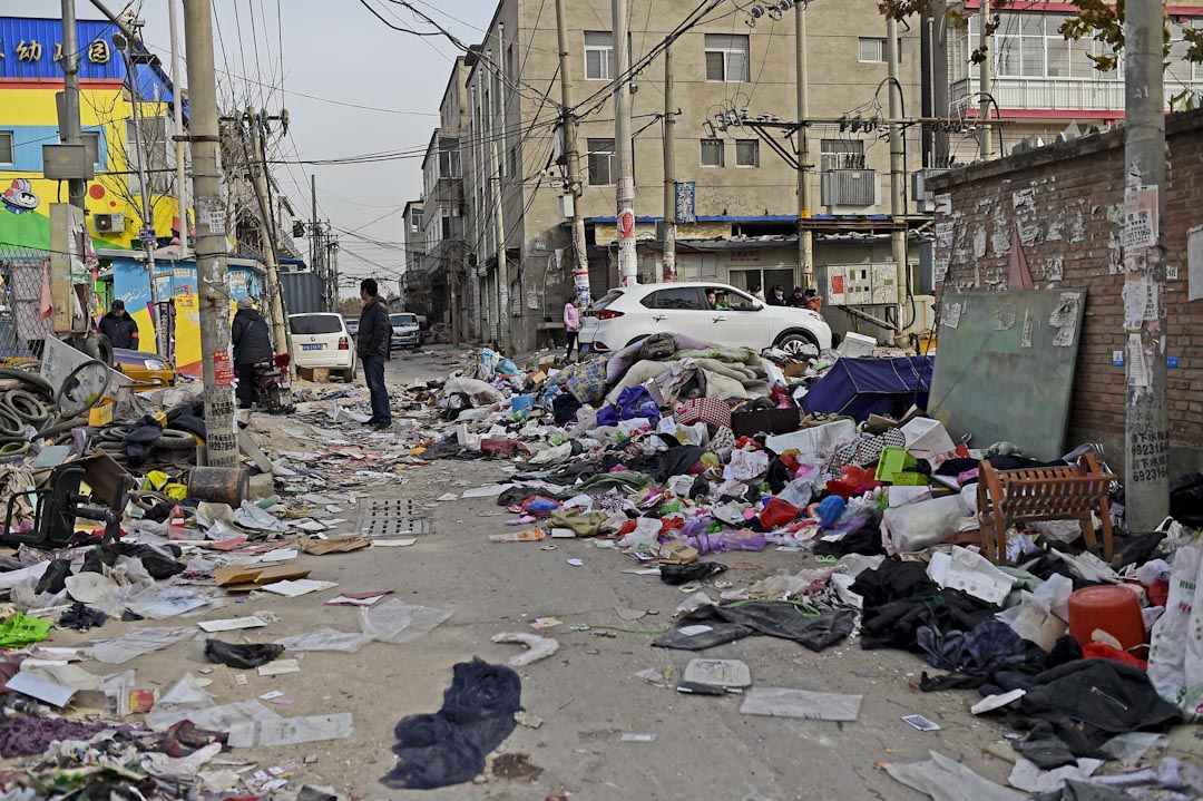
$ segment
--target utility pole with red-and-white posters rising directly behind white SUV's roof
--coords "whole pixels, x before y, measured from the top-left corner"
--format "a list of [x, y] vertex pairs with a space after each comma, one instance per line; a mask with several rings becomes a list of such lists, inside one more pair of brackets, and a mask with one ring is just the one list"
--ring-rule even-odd
[[615, 200], [618, 229], [618, 284], [639, 283], [639, 256], [635, 253], [635, 172], [630, 153], [630, 37], [627, 30], [627, 0], [614, 2], [614, 52], [617, 75], [614, 84], [614, 156], [617, 177]]

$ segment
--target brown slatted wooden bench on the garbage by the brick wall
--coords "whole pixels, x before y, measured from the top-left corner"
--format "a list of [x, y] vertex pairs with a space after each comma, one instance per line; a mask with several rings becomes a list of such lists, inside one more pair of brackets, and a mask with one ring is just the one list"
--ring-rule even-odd
[[1078, 467], [996, 470], [983, 461], [978, 470], [978, 523], [985, 556], [995, 564], [1007, 560], [1007, 529], [1015, 523], [1077, 520], [1086, 546], [1094, 551], [1095, 523], [1103, 523], [1103, 560], [1112, 560], [1112, 515], [1107, 491], [1115, 476], [1104, 474], [1094, 453]]

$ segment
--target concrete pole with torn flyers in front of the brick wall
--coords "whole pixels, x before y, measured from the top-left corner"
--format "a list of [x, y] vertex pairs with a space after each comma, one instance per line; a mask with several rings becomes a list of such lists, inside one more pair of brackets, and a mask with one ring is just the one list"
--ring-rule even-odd
[[1166, 219], [1163, 20], [1157, 0], [1132, 0], [1126, 12], [1126, 213], [1121, 236], [1127, 334], [1124, 494], [1128, 532], [1144, 533], [1154, 530], [1169, 514], [1162, 237]]

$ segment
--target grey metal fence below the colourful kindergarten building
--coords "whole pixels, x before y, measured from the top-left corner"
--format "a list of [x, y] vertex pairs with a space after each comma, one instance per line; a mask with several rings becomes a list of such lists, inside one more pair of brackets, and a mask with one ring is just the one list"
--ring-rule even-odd
[[0, 244], [0, 361], [41, 357], [51, 325], [51, 251]]

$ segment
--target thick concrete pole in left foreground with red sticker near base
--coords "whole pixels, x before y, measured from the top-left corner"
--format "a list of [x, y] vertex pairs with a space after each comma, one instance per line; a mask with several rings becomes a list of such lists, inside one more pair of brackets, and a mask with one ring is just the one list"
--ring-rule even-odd
[[230, 360], [230, 301], [226, 283], [226, 214], [218, 167], [218, 87], [213, 70], [211, 0], [184, 4], [184, 46], [191, 111], [192, 197], [196, 201], [196, 279], [201, 301], [201, 363], [208, 463], [238, 465], [233, 364]]

